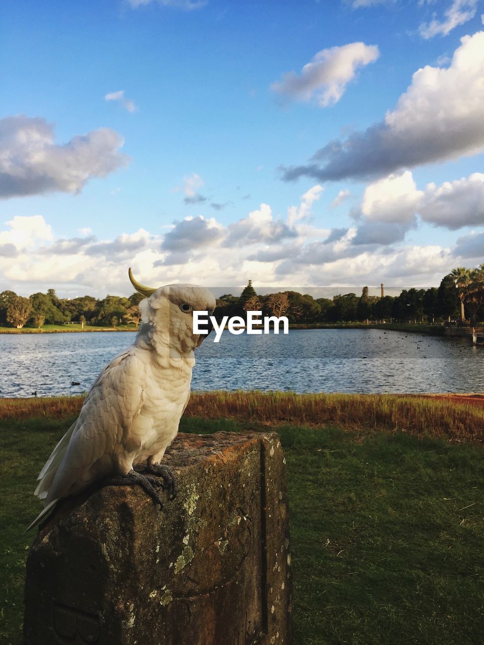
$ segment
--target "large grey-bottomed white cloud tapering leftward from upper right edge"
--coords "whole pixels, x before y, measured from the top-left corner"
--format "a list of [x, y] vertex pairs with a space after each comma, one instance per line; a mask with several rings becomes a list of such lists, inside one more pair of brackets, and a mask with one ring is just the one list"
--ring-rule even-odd
[[461, 38], [449, 68], [426, 66], [385, 120], [318, 150], [283, 179], [365, 179], [484, 150], [484, 32]]

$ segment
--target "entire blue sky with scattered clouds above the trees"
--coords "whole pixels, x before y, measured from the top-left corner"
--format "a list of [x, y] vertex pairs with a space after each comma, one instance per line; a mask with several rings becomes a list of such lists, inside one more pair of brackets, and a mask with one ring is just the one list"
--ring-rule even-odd
[[128, 266], [154, 285], [429, 286], [480, 264], [483, 12], [6, 0], [0, 290], [129, 293]]

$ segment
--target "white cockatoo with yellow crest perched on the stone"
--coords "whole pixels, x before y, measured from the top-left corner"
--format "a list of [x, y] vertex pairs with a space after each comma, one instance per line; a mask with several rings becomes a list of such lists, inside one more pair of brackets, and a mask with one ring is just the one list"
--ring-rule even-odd
[[206, 335], [193, 333], [194, 311], [210, 315], [212, 293], [193, 284], [152, 289], [129, 277], [146, 298], [139, 303], [143, 324], [136, 340], [97, 377], [76, 422], [55, 446], [37, 478], [35, 495], [45, 508], [32, 528], [69, 495], [103, 477], [107, 484], [140, 484], [163, 508], [157, 487], [163, 482], [133, 466], [146, 461], [161, 475], [174, 497], [172, 472], [161, 466], [165, 450], [178, 432], [190, 397], [194, 349]]

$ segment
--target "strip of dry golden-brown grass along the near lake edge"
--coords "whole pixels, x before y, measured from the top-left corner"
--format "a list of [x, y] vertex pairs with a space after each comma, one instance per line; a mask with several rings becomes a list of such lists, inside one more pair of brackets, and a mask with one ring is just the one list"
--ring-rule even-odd
[[[0, 419], [63, 418], [81, 409], [83, 397], [0, 399]], [[194, 392], [186, 416], [232, 418], [264, 424], [334, 423], [361, 430], [403, 430], [484, 441], [484, 408], [452, 399], [415, 395], [294, 394], [291, 392]]]

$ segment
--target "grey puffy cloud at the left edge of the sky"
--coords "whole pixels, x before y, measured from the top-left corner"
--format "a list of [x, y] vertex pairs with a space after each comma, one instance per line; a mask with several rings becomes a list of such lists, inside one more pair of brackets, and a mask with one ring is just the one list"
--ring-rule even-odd
[[99, 128], [54, 143], [54, 126], [40, 117], [21, 114], [0, 119], [0, 197], [79, 192], [92, 177], [106, 177], [129, 157], [119, 148], [123, 139]]

